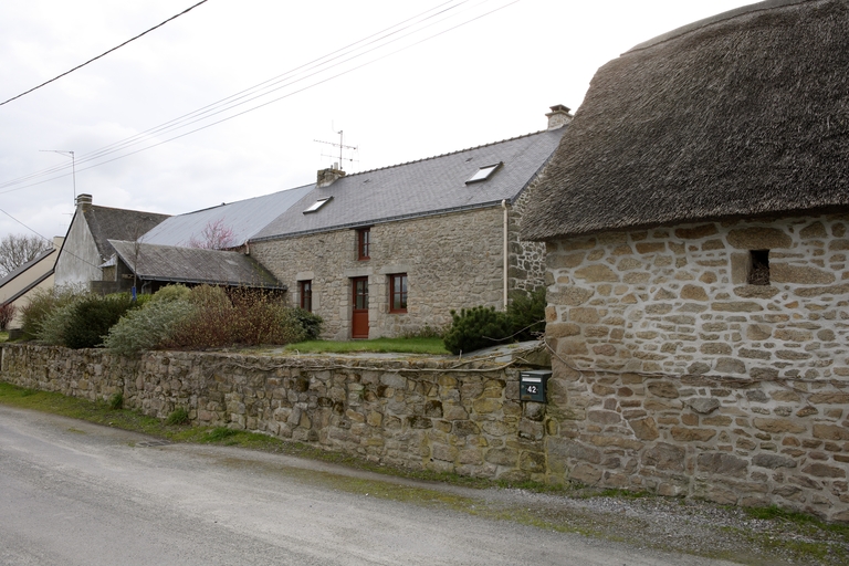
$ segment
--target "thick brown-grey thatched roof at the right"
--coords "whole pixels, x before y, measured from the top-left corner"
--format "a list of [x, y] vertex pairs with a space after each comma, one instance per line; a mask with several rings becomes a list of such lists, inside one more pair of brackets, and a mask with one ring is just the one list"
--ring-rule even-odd
[[536, 240], [849, 210], [849, 0], [773, 0], [599, 69], [523, 222]]

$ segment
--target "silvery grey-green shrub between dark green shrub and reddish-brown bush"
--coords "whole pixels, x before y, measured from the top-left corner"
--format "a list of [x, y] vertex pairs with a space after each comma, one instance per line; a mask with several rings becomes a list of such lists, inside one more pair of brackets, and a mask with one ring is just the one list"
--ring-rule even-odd
[[155, 349], [168, 342], [176, 328], [195, 313], [196, 307], [185, 298], [157, 300], [158, 295], [142, 308], [129, 311], [109, 328], [104, 347], [124, 356]]

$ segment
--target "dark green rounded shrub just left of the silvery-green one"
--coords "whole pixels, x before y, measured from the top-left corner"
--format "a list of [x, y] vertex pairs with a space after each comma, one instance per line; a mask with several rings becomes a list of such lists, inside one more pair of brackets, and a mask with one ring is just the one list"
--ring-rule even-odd
[[133, 298], [128, 293], [92, 295], [81, 300], [74, 305], [65, 328], [65, 346], [77, 349], [102, 346], [109, 328], [133, 306]]

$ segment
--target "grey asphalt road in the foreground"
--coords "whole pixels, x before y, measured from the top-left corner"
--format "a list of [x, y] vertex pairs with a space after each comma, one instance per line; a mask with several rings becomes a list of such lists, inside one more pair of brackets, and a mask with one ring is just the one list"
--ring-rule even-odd
[[472, 490], [151, 440], [0, 406], [0, 564], [725, 564], [483, 518]]

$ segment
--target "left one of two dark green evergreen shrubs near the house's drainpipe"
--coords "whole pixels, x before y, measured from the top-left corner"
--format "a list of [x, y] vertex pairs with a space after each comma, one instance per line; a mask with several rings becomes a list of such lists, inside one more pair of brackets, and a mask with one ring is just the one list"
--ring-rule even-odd
[[507, 314], [495, 311], [494, 306], [462, 308], [460, 314], [451, 311], [451, 317], [453, 323], [442, 338], [446, 349], [451, 354], [495, 346], [511, 335]]

